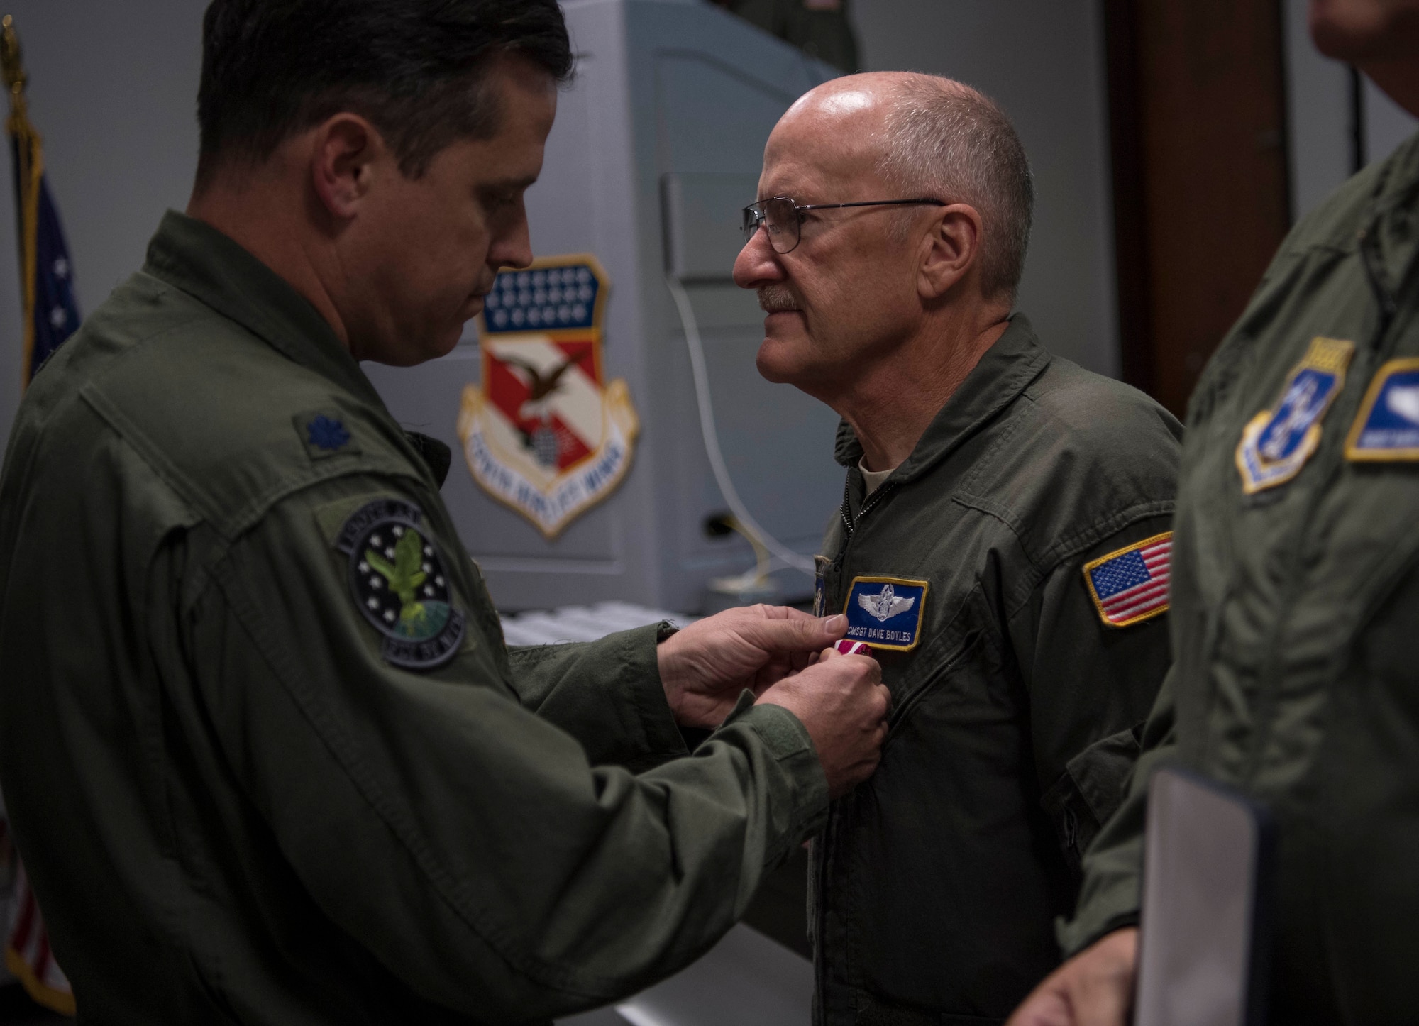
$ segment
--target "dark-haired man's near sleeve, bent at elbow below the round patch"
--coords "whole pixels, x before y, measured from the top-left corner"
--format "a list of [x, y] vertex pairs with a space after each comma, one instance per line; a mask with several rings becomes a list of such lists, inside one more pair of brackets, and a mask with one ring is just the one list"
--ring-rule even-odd
[[742, 702], [641, 775], [593, 768], [501, 678], [465, 585], [451, 661], [392, 666], [312, 502], [201, 561], [183, 644], [211, 744], [294, 874], [420, 995], [480, 1022], [629, 995], [701, 955], [820, 826], [823, 769], [779, 707]]

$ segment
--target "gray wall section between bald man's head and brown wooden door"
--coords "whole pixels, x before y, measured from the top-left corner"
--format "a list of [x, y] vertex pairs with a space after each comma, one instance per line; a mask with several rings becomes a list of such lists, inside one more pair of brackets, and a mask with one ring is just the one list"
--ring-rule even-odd
[[853, 0], [871, 71], [929, 71], [990, 95], [1036, 179], [1020, 285], [1051, 351], [1118, 373], [1103, 10], [1098, 0]]

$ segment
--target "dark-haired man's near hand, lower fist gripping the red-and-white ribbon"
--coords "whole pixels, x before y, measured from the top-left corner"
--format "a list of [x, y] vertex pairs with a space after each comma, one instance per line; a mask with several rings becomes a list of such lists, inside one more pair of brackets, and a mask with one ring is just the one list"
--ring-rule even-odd
[[816, 664], [759, 697], [761, 704], [782, 705], [803, 721], [832, 798], [851, 790], [877, 769], [891, 707], [891, 693], [881, 680], [881, 667], [870, 656], [843, 656], [829, 649]]

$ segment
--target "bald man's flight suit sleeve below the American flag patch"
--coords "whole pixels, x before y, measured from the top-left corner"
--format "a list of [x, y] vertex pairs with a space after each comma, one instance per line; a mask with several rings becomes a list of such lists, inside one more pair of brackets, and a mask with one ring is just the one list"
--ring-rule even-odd
[[1147, 517], [1063, 561], [1010, 623], [1030, 695], [1040, 805], [1076, 870], [1122, 802], [1171, 661], [1166, 613], [1127, 627], [1105, 624], [1084, 565], [1168, 531], [1169, 521]]

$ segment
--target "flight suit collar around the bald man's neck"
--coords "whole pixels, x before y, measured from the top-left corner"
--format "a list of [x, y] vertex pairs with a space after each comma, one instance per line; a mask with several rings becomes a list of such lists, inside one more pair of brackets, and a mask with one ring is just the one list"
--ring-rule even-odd
[[[1034, 329], [1025, 314], [1010, 318], [1010, 326], [996, 339], [981, 362], [945, 402], [935, 419], [917, 441], [887, 484], [907, 484], [959, 448], [1000, 410], [1044, 372], [1050, 355], [1040, 346]], [[837, 426], [837, 446], [833, 457], [849, 468], [849, 477], [861, 478], [857, 461], [863, 458], [863, 444], [844, 420]], [[854, 474], [856, 471], [856, 474]]]

